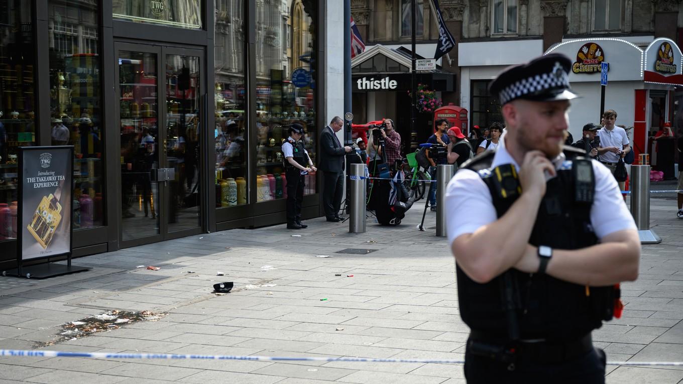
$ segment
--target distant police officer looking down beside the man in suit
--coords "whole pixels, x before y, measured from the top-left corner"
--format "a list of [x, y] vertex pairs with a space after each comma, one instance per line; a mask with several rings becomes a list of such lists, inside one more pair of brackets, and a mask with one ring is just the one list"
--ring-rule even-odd
[[304, 148], [303, 126], [293, 123], [290, 126], [290, 137], [282, 144], [285, 158], [285, 176], [287, 177], [287, 229], [301, 230], [308, 225], [301, 223], [301, 203], [303, 202], [304, 176], [316, 171], [313, 161]]

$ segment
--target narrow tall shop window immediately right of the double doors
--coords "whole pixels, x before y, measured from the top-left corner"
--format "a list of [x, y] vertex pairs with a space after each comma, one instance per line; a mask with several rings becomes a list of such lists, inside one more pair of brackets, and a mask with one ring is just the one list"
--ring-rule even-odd
[[[216, 206], [247, 204], [245, 1], [216, 2], [214, 47]], [[234, 196], [229, 193], [236, 188]]]

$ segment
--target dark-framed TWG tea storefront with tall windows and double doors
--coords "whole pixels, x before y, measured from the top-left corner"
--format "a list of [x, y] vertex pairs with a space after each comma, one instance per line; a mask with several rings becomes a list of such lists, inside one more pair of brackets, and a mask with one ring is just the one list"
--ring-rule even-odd
[[[74, 147], [74, 256], [285, 222], [286, 127], [303, 124], [317, 160], [325, 126], [324, 1], [0, 7], [2, 269], [16, 259], [22, 146]], [[303, 215], [317, 217], [308, 177]]]

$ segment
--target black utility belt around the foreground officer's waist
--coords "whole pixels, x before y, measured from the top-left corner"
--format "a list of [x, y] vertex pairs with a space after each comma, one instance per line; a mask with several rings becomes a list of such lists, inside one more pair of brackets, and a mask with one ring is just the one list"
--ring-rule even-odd
[[494, 340], [480, 331], [471, 331], [467, 340], [470, 353], [503, 363], [553, 364], [572, 361], [593, 349], [593, 338], [587, 333], [574, 340]]

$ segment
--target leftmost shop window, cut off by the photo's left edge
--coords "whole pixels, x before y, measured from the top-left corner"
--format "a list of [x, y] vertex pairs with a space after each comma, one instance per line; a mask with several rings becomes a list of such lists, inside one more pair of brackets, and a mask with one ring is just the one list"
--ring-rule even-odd
[[19, 146], [36, 145], [31, 2], [0, 5], [0, 241], [16, 238]]

